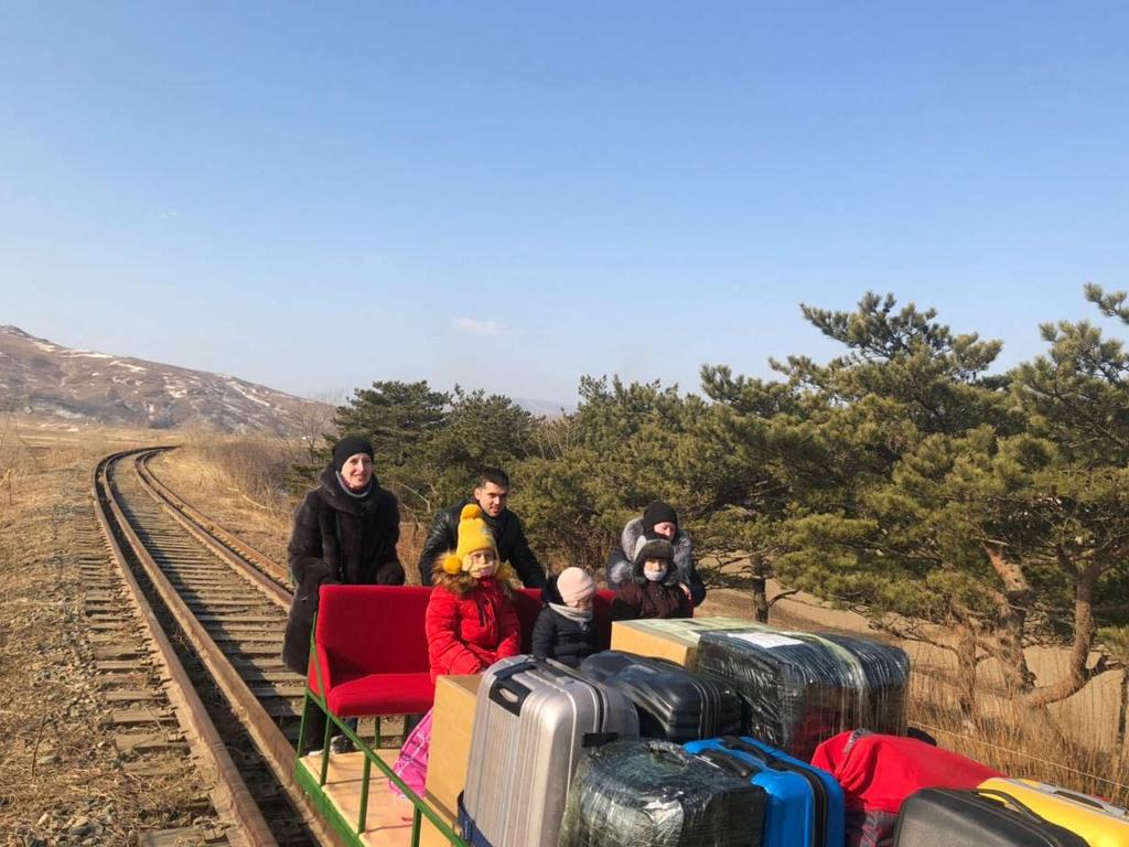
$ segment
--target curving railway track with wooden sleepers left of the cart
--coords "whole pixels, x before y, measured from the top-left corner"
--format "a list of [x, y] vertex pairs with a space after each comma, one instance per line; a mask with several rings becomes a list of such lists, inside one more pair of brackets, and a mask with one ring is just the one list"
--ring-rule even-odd
[[[115, 744], [140, 777], [191, 757], [211, 784], [219, 823], [186, 842], [338, 844], [291, 779], [305, 680], [279, 658], [286, 571], [161, 486], [146, 466], [160, 449], [117, 453], [95, 471], [120, 584], [88, 591], [87, 613]], [[142, 844], [184, 842], [173, 839]]]

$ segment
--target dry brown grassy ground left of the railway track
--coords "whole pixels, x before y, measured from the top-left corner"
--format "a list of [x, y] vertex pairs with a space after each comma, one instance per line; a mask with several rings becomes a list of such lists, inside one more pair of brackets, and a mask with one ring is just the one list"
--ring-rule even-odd
[[85, 586], [75, 566], [76, 529], [94, 519], [88, 490], [97, 460], [155, 440], [151, 433], [59, 429], [0, 418], [6, 842], [78, 842], [67, 828], [87, 818], [105, 823], [103, 842], [132, 844], [139, 831], [174, 820], [178, 810], [193, 803], [199, 809], [200, 786], [192, 780], [138, 780], [121, 769], [88, 667]]

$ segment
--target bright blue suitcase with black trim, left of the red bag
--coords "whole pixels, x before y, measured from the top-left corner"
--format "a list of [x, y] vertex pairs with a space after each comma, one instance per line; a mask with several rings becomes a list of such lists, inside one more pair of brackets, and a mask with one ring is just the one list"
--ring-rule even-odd
[[843, 792], [834, 777], [755, 739], [727, 735], [683, 745], [718, 762], [742, 762], [764, 788], [764, 847], [841, 847], [847, 840]]

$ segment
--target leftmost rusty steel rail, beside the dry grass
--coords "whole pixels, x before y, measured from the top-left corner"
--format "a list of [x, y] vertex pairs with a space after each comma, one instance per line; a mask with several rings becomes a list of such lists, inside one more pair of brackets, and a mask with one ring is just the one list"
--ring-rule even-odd
[[130, 601], [137, 609], [148, 630], [149, 638], [156, 647], [155, 658], [168, 675], [170, 684], [166, 695], [176, 714], [177, 722], [184, 730], [185, 741], [198, 760], [216, 775], [216, 786], [210, 793], [212, 804], [221, 818], [228, 819], [238, 827], [237, 835], [228, 833], [228, 840], [231, 841], [233, 836], [235, 836], [236, 839], [242, 837], [244, 842], [252, 847], [278, 847], [278, 841], [274, 839], [259, 805], [251, 796], [246, 783], [196, 693], [187, 671], [181, 664], [176, 650], [133, 576], [122, 547], [117, 543], [112, 521], [116, 523], [123, 534], [129, 536], [131, 533], [126, 532], [128, 523], [114, 500], [108, 469], [112, 463], [126, 455], [129, 455], [129, 451], [106, 456], [95, 468], [90, 495], [98, 525], [129, 588]]

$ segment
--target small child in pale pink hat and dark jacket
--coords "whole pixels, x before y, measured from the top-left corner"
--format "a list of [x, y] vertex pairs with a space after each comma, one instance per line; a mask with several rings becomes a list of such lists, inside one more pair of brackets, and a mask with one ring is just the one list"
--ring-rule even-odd
[[579, 667], [596, 652], [592, 599], [596, 580], [583, 568], [564, 568], [541, 591], [544, 606], [533, 625], [533, 657]]

